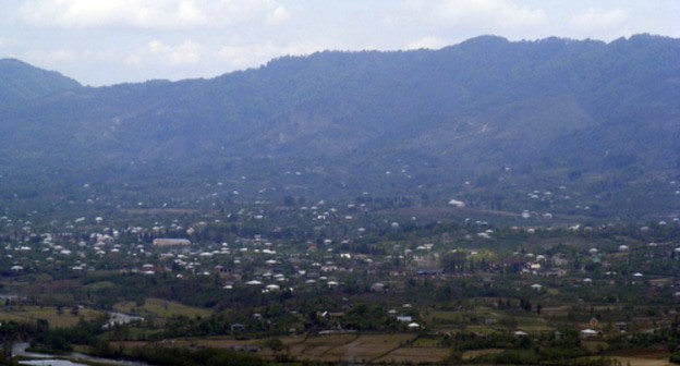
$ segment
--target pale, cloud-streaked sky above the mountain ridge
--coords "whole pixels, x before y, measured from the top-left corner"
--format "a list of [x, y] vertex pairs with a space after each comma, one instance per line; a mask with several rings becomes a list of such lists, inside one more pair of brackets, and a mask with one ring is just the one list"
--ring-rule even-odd
[[214, 77], [323, 50], [439, 49], [479, 35], [680, 37], [679, 0], [2, 0], [0, 58], [84, 85]]

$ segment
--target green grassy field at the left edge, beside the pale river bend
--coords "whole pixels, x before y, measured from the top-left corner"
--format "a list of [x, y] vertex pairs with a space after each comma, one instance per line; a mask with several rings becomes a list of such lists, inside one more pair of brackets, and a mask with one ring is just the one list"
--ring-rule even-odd
[[52, 328], [69, 328], [75, 326], [81, 318], [92, 320], [105, 316], [101, 312], [90, 309], [80, 309], [77, 315], [71, 314], [69, 308], [64, 308], [62, 314], [56, 307], [24, 306], [21, 309], [12, 308], [0, 312], [0, 321], [35, 322], [37, 319], [45, 319]]

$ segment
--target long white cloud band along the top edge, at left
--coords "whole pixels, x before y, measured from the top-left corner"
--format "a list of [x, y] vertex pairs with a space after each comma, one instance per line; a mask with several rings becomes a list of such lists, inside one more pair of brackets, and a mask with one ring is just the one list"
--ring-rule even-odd
[[35, 26], [148, 29], [278, 24], [290, 15], [276, 0], [27, 0], [19, 14]]

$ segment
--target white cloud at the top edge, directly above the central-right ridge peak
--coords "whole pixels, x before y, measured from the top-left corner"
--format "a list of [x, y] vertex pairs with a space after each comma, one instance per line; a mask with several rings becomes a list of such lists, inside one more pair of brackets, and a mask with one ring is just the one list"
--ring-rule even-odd
[[503, 27], [533, 26], [545, 21], [541, 9], [518, 5], [508, 0], [444, 0], [437, 14], [454, 24], [481, 23]]

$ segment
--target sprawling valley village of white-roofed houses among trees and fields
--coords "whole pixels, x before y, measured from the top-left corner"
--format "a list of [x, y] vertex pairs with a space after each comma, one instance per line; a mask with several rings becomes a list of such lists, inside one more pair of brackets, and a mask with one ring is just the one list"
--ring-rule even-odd
[[[677, 218], [508, 225], [371, 208], [3, 216], [0, 330], [99, 324], [94, 339], [121, 355], [163, 344], [281, 362], [616, 362], [677, 346]], [[58, 338], [36, 345], [101, 349]]]

